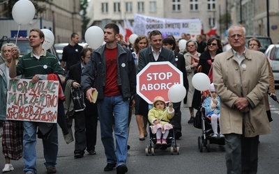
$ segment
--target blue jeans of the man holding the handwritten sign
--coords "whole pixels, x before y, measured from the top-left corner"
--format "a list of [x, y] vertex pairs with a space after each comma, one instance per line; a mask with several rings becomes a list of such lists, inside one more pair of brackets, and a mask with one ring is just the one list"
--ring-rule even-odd
[[[36, 135], [37, 122], [24, 121], [23, 132], [23, 171], [37, 173], [36, 169]], [[55, 167], [58, 152], [57, 125], [54, 124], [48, 139], [43, 139], [44, 157], [46, 168]]]

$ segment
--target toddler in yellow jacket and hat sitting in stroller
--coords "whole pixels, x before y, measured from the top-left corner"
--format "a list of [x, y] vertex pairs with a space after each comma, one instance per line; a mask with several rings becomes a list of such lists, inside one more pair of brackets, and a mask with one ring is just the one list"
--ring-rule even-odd
[[[156, 148], [167, 146], [167, 136], [169, 129], [172, 129], [172, 124], [169, 123], [170, 119], [174, 117], [174, 109], [172, 102], [169, 102], [169, 107], [166, 107], [165, 99], [157, 96], [153, 101], [153, 108], [149, 110], [148, 119], [151, 122], [151, 132], [156, 134]], [[161, 139], [163, 134], [163, 138]]]

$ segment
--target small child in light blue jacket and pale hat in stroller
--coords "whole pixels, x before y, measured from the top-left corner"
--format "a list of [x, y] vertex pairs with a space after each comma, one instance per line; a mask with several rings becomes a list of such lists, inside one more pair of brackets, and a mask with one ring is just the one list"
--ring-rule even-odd
[[[205, 109], [205, 115], [209, 120], [211, 120], [211, 127], [213, 129], [212, 138], [223, 138], [224, 135], [218, 134], [218, 118], [220, 118], [220, 97], [217, 95], [216, 90], [214, 88], [214, 84], [210, 84], [209, 93], [211, 96], [206, 97], [204, 102], [202, 103], [202, 107]], [[220, 119], [219, 119], [220, 122]]]

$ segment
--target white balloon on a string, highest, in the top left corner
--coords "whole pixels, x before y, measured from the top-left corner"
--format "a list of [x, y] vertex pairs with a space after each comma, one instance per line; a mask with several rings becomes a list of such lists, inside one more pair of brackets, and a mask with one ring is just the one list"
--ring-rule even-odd
[[31, 1], [17, 1], [13, 5], [12, 15], [17, 24], [28, 24], [35, 15], [35, 7]]

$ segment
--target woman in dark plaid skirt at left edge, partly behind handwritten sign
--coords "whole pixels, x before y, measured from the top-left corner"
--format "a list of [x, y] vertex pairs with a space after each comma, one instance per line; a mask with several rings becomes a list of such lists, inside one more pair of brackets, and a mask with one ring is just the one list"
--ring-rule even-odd
[[6, 119], [7, 90], [4, 89], [7, 88], [8, 81], [10, 80], [9, 67], [13, 56], [17, 59], [20, 57], [20, 50], [18, 48], [17, 52], [12, 52], [14, 47], [17, 46], [13, 43], [5, 44], [1, 47], [1, 56], [6, 59], [5, 63], [0, 65], [0, 121], [3, 125], [2, 152], [5, 157], [3, 173], [13, 171], [14, 168], [10, 164], [10, 159], [18, 160], [22, 158], [23, 149], [23, 122]]

